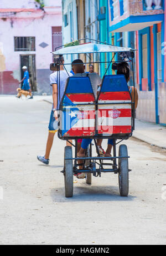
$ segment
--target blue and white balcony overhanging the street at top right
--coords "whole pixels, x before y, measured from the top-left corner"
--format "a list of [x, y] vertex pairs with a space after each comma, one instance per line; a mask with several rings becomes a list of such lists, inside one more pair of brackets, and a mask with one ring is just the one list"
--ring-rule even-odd
[[164, 0], [110, 0], [110, 32], [137, 31], [164, 21]]

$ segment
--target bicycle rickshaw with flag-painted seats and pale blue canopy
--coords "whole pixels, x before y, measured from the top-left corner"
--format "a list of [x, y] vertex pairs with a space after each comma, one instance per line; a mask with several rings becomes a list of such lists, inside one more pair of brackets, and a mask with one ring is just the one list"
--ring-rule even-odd
[[[111, 63], [115, 66], [114, 58], [119, 54], [121, 58], [132, 64], [134, 50], [126, 47], [116, 47], [110, 44], [86, 43], [55, 50], [53, 54], [82, 54], [82, 53], [113, 53]], [[103, 62], [90, 62], [103, 63]], [[56, 63], [58, 67], [63, 63]], [[70, 63], [71, 64], [71, 63]], [[87, 64], [87, 62], [85, 63]], [[63, 64], [64, 68], [66, 64]], [[107, 68], [107, 70], [108, 70]], [[65, 68], [66, 70], [66, 68]], [[106, 72], [107, 72], [106, 70]], [[68, 72], [66, 70], [66, 72]], [[58, 74], [58, 72], [57, 72]], [[59, 76], [59, 74], [58, 74]], [[134, 86], [134, 72], [133, 72]], [[58, 87], [60, 92], [60, 84]], [[60, 94], [60, 93], [59, 93]], [[91, 177], [101, 177], [101, 173], [118, 174], [120, 195], [128, 195], [128, 152], [127, 146], [121, 144], [116, 155], [116, 145], [124, 139], [132, 136], [134, 130], [134, 99], [124, 75], [105, 75], [102, 79], [101, 91], [94, 96], [90, 78], [69, 77], [66, 83], [65, 93], [60, 101], [58, 137], [63, 140], [74, 139], [75, 157], [72, 157], [72, 147], [66, 146], [64, 152], [64, 180], [65, 196], [73, 195], [73, 177], [77, 173], [86, 174], [86, 183], [91, 184]], [[77, 139], [92, 138], [96, 147], [97, 156], [92, 156], [92, 144], [86, 151], [86, 157], [77, 157]], [[101, 157], [98, 152], [97, 138], [113, 139], [113, 156]], [[117, 142], [117, 140], [120, 140]], [[80, 170], [78, 160], [83, 161]], [[118, 163], [117, 163], [118, 160]]]

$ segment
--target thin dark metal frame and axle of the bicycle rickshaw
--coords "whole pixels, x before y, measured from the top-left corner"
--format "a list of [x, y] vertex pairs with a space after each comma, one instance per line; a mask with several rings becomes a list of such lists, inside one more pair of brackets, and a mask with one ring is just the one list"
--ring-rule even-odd
[[[81, 39], [80, 39], [81, 40]], [[91, 39], [92, 40], [92, 39]], [[100, 42], [100, 41], [98, 41]], [[100, 42], [102, 43], [102, 42]], [[104, 43], [106, 44], [106, 43]], [[108, 44], [110, 45], [110, 44]], [[134, 50], [132, 50], [134, 51]], [[126, 51], [125, 51], [126, 52]], [[56, 52], [54, 52], [56, 53]], [[95, 53], [95, 52], [94, 52]], [[98, 52], [96, 52], [98, 53]], [[107, 67], [107, 70], [105, 72], [105, 75], [108, 71], [108, 68], [110, 67], [111, 63], [118, 63], [118, 61], [113, 61], [113, 58], [115, 57], [117, 52], [114, 53], [112, 59], [110, 62], [85, 62], [84, 64], [94, 64], [94, 63], [110, 63]], [[76, 54], [76, 53], [71, 53], [71, 54]], [[69, 142], [72, 146], [75, 147], [75, 157], [69, 157], [69, 155], [66, 157], [66, 155], [64, 156], [64, 169], [61, 171], [62, 173], [64, 173], [64, 176], [65, 176], [65, 172], [66, 172], [66, 162], [69, 162], [69, 161], [73, 161], [74, 160], [74, 165], [73, 165], [73, 169], [72, 169], [72, 172], [74, 175], [77, 175], [78, 173], [91, 173], [93, 174], [95, 177], [97, 176], [100, 176], [101, 177], [101, 173], [106, 173], [106, 172], [109, 172], [109, 173], [118, 173], [119, 174], [119, 183], [120, 183], [120, 163], [121, 162], [124, 162], [124, 160], [126, 159], [127, 162], [126, 162], [126, 165], [128, 166], [128, 154], [126, 155], [119, 155], [117, 157], [116, 155], [116, 145], [120, 142], [122, 142], [122, 140], [125, 140], [125, 139], [128, 139], [129, 137], [132, 136], [132, 132], [134, 130], [134, 121], [135, 121], [135, 82], [134, 82], [134, 70], [133, 70], [133, 57], [132, 58], [129, 58], [128, 57], [128, 61], [126, 62], [131, 62], [132, 63], [132, 74], [133, 74], [133, 87], [134, 87], [134, 99], [133, 99], [133, 102], [124, 102], [123, 104], [131, 104], [132, 107], [132, 130], [131, 130], [131, 133], [128, 133], [128, 134], [112, 134], [111, 136], [110, 135], [100, 135], [100, 134], [97, 134], [97, 129], [96, 129], [96, 126], [95, 126], [95, 134], [97, 135], [94, 135], [94, 136], [80, 136], [79, 138], [81, 139], [85, 139], [85, 138], [92, 138], [94, 139], [94, 143], [95, 143], [95, 147], [96, 147], [96, 152], [97, 152], [97, 157], [92, 157], [92, 144], [89, 145], [89, 148], [87, 150], [89, 150], [89, 155], [86, 155], [86, 157], [77, 157], [77, 139], [78, 137], [74, 137], [74, 136], [71, 136], [70, 138], [69, 137], [64, 137], [62, 136], [61, 134], [61, 130], [58, 129], [58, 138], [62, 139], [62, 140], [67, 140], [69, 142], [69, 139], [75, 139], [75, 145], [71, 142]], [[64, 64], [62, 61], [59, 61], [58, 64], [58, 72], [57, 72], [57, 81], [59, 80], [59, 85], [58, 85], [58, 90], [59, 90], [59, 96], [60, 96], [60, 65], [63, 65], [64, 69], [66, 70], [65, 68], [65, 65], [71, 65], [71, 63], [66, 63]], [[68, 73], [68, 71], [66, 70], [66, 72]], [[105, 75], [103, 76], [103, 78], [105, 77]], [[58, 79], [59, 78], [59, 79]], [[66, 90], [66, 89], [65, 89]], [[65, 94], [65, 92], [64, 92]], [[102, 105], [102, 104], [110, 104], [110, 103], [98, 103], [98, 97], [96, 99], [96, 103], [88, 103], [88, 104], [82, 104], [84, 106], [91, 106], [91, 105], [95, 105], [96, 106], [96, 111], [98, 109], [98, 106], [99, 105]], [[114, 103], [111, 103], [111, 104], [118, 104], [117, 102], [114, 102]], [[81, 105], [80, 103], [79, 104], [75, 104], [75, 106], [77, 105]], [[62, 111], [63, 109], [63, 104], [59, 98], [59, 109], [60, 111]], [[97, 142], [96, 142], [96, 139], [113, 139], [113, 157], [100, 157], [100, 153], [98, 151], [98, 147], [97, 147]], [[116, 140], [117, 139], [120, 139], [119, 142], [116, 143]], [[123, 145], [125, 146], [125, 145]], [[68, 147], [68, 146], [66, 146]], [[118, 165], [117, 165], [117, 159], [118, 159]], [[84, 161], [83, 164], [79, 164], [77, 163], [78, 160], [82, 160]], [[97, 160], [99, 162], [97, 162]], [[105, 160], [112, 160], [113, 163], [105, 163], [104, 161]], [[89, 161], [89, 165], [86, 166], [86, 162]], [[71, 163], [71, 162], [70, 162]], [[96, 168], [96, 164], [99, 165], [98, 168]], [[80, 170], [78, 169], [78, 167], [80, 165], [83, 165], [83, 168]], [[112, 166], [112, 168], [104, 168], [103, 165], [106, 165], [106, 166]], [[130, 169], [128, 169], [128, 172], [130, 171]], [[127, 181], [126, 181], [127, 182]], [[71, 183], [71, 182], [70, 182]], [[88, 182], [87, 182], [88, 183]], [[88, 184], [91, 184], [91, 183], [88, 183]], [[72, 189], [71, 189], [72, 190]], [[65, 183], [65, 192], [66, 192], [66, 183]], [[72, 197], [72, 191], [70, 191], [69, 193], [65, 193], [66, 194], [66, 197]], [[125, 193], [121, 192], [121, 188], [120, 188], [120, 194], [121, 195], [125, 195], [127, 196], [128, 195], [128, 189], [125, 190]]]

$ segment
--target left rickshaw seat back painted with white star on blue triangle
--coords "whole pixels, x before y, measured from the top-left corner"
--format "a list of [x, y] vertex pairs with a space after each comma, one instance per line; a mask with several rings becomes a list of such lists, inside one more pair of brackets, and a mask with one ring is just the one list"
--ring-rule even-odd
[[92, 103], [95, 96], [90, 78], [69, 77], [61, 101], [60, 137], [95, 135], [95, 104]]

